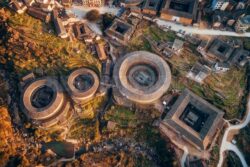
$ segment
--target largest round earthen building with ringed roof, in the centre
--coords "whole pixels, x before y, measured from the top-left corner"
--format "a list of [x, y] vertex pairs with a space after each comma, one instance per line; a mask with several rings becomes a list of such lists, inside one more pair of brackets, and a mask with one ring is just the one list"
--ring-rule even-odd
[[137, 103], [153, 103], [169, 88], [171, 72], [158, 55], [136, 51], [120, 58], [113, 75], [120, 93]]

